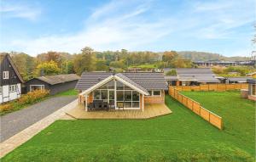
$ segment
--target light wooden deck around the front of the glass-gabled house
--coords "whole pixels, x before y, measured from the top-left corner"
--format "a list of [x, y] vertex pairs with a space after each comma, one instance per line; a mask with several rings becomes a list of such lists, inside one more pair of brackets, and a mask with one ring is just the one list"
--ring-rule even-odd
[[84, 105], [78, 104], [74, 109], [66, 112], [75, 119], [148, 119], [160, 115], [171, 114], [166, 104], [145, 104], [143, 110], [111, 110], [86, 112]]

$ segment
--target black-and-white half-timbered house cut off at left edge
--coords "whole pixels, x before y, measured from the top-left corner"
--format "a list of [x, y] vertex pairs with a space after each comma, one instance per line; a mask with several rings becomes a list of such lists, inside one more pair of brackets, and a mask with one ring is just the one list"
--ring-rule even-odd
[[0, 103], [20, 98], [24, 82], [9, 53], [0, 53]]

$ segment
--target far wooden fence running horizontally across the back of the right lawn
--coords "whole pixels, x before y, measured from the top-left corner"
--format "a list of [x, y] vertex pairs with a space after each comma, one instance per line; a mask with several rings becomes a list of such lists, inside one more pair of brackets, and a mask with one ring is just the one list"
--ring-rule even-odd
[[176, 89], [180, 91], [229, 91], [248, 89], [248, 84], [201, 84], [200, 86], [177, 86]]

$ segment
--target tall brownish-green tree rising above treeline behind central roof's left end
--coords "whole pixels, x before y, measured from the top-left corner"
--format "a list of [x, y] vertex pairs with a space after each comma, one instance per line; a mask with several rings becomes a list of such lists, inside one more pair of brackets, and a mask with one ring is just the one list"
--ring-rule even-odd
[[95, 70], [96, 59], [93, 49], [84, 47], [81, 54], [75, 56], [73, 67], [77, 74], [81, 75], [84, 71]]

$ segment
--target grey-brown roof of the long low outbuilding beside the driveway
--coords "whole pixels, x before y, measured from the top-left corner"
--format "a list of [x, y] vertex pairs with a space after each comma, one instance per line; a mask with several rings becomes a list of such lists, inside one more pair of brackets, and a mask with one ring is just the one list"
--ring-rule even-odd
[[76, 81], [80, 79], [79, 75], [68, 74], [68, 75], [48, 75], [48, 76], [39, 76], [36, 79], [44, 81], [50, 85], [55, 85], [59, 83], [64, 83], [67, 81]]

